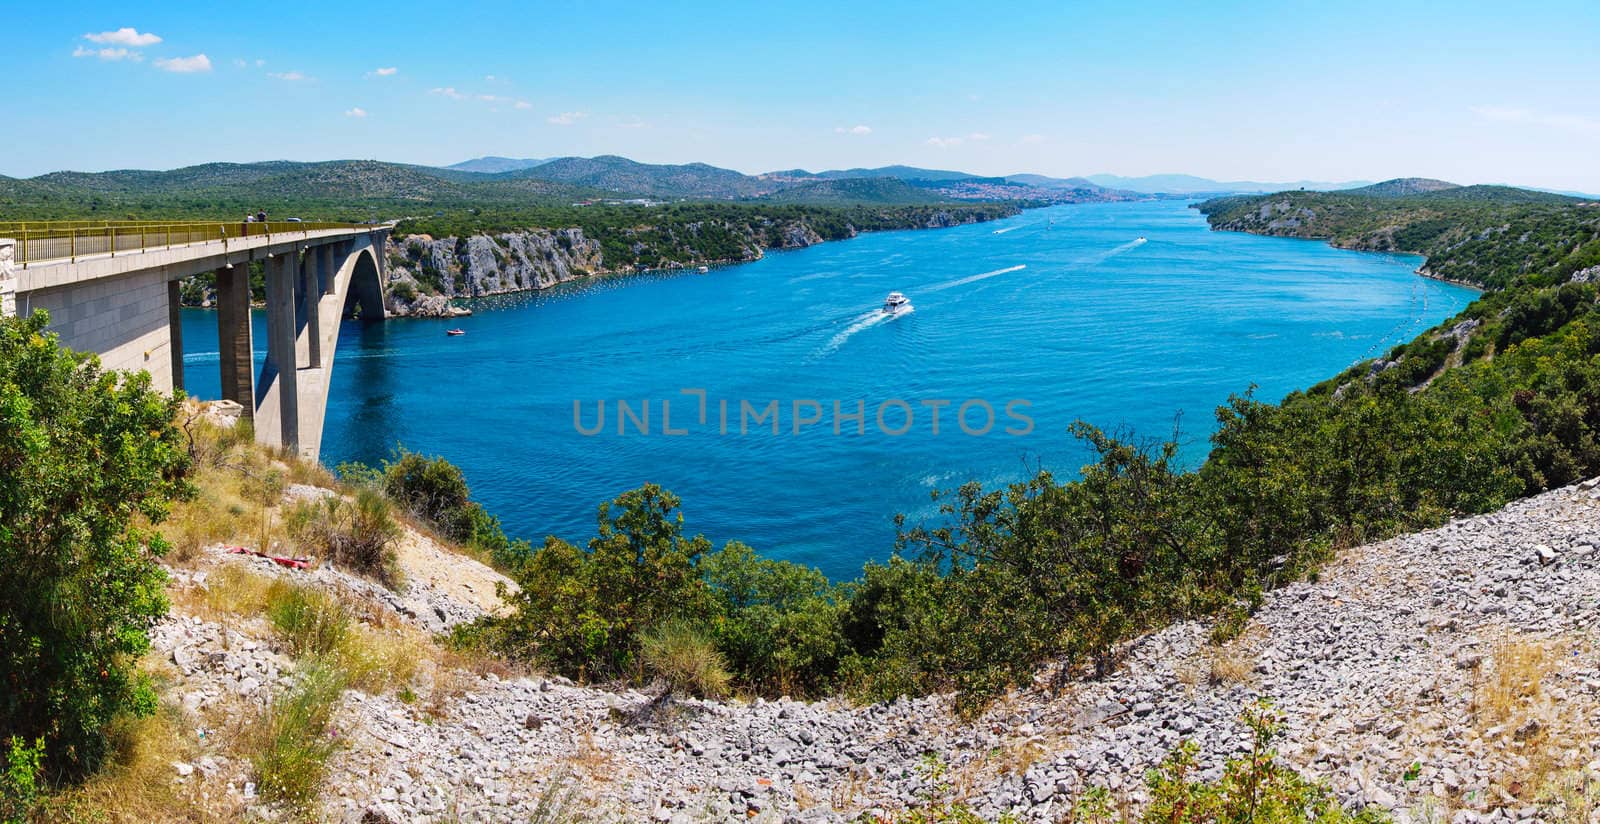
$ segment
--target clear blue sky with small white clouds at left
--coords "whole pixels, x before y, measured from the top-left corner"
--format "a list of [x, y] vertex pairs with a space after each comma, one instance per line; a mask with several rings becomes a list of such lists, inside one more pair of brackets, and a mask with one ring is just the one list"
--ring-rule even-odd
[[0, 174], [622, 154], [1600, 192], [1600, 3], [22, 3]]

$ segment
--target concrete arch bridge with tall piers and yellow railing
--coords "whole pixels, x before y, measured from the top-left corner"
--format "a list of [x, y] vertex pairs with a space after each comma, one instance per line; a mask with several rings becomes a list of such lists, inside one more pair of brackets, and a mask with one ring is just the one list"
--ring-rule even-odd
[[[184, 386], [178, 285], [216, 275], [222, 397], [256, 440], [317, 459], [344, 318], [384, 317], [384, 243], [394, 224], [0, 222], [3, 312], [50, 312], [62, 344], [112, 370]], [[267, 357], [250, 323], [250, 264], [266, 274]]]

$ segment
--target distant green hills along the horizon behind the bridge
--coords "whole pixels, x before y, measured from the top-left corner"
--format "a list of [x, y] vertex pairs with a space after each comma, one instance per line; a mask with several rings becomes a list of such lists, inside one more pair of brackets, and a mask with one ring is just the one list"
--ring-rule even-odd
[[[858, 174], [858, 171], [861, 174]], [[925, 178], [922, 174], [934, 174]], [[638, 163], [626, 157], [478, 158], [451, 168], [331, 160], [203, 163], [170, 171], [56, 171], [0, 176], [0, 219], [237, 219], [269, 216], [389, 221], [440, 211], [570, 206], [619, 200], [922, 205], [965, 202], [1126, 200], [1086, 181], [1034, 182], [933, 173], [910, 166], [813, 176], [742, 174], [706, 163]]]

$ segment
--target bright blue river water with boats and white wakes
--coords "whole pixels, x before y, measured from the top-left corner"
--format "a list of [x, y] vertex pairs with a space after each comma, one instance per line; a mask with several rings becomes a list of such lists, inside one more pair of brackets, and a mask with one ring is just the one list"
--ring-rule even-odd
[[[346, 323], [322, 454], [446, 456], [534, 542], [586, 541], [602, 501], [654, 482], [691, 533], [845, 579], [890, 555], [896, 512], [936, 518], [934, 490], [1075, 474], [1075, 419], [1181, 422], [1197, 464], [1229, 394], [1277, 400], [1475, 298], [1419, 262], [1096, 203], [501, 296], [458, 322]], [[891, 290], [915, 310], [878, 314]], [[214, 315], [186, 310], [184, 346], [189, 390], [216, 397]]]

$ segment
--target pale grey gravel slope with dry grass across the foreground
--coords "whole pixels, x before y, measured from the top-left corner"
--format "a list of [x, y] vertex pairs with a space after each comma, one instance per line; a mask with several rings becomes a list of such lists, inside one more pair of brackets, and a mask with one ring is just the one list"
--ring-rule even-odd
[[[1109, 678], [1050, 690], [1042, 674], [971, 722], [939, 698], [675, 701], [539, 675], [430, 674], [410, 702], [350, 691], [325, 810], [528, 821], [541, 802], [570, 800], [602, 821], [842, 821], [939, 797], [986, 818], [1058, 821], [1090, 786], [1138, 808], [1144, 773], [1184, 739], [1218, 774], [1248, 746], [1238, 714], [1267, 698], [1286, 720], [1282, 758], [1349, 806], [1400, 821], [1584, 821], [1600, 779], [1597, 498], [1590, 482], [1349, 550], [1320, 581], [1272, 592], [1226, 645], [1208, 626], [1174, 626], [1133, 645]], [[434, 622], [410, 608], [437, 626], [482, 605], [453, 610]], [[179, 693], [282, 680], [282, 654], [224, 643], [237, 632], [179, 614], [157, 634], [179, 661]], [[1587, 800], [1574, 795], [1586, 787]]]

